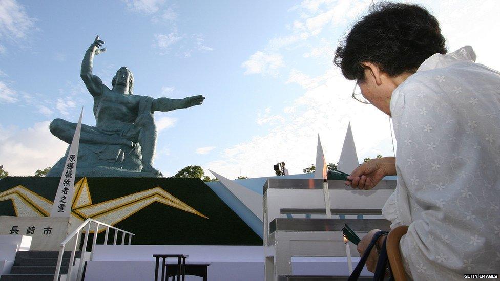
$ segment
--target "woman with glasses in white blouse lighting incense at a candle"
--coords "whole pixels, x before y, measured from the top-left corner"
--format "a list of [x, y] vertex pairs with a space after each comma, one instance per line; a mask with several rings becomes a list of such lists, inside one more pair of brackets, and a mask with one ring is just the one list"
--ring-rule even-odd
[[[448, 53], [426, 9], [387, 2], [372, 6], [335, 54], [361, 89], [357, 99], [392, 118], [396, 157], [360, 165], [346, 185], [368, 190], [397, 175], [382, 213], [391, 228], [409, 226], [400, 241], [408, 279], [500, 269], [500, 73], [475, 58], [470, 46]], [[360, 254], [377, 231], [363, 237]], [[368, 270], [377, 260], [372, 250]]]

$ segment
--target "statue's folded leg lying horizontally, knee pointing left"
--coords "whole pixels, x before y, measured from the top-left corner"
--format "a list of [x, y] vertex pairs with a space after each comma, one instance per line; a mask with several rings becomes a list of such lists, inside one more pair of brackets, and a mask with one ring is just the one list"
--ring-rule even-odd
[[[68, 122], [63, 119], [54, 119], [49, 125], [52, 135], [58, 137], [66, 143], [71, 143], [76, 130], [76, 123]], [[80, 142], [96, 144], [120, 144], [133, 147], [134, 143], [130, 140], [121, 138], [118, 134], [106, 135], [97, 131], [95, 127], [81, 124]]]

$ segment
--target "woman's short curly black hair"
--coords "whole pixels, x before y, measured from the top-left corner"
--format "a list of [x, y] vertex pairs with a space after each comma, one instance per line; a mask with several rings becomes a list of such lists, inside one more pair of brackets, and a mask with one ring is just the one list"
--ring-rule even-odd
[[390, 76], [414, 73], [435, 53], [446, 54], [438, 20], [413, 4], [381, 2], [356, 23], [335, 52], [334, 63], [349, 80], [364, 81], [362, 62]]

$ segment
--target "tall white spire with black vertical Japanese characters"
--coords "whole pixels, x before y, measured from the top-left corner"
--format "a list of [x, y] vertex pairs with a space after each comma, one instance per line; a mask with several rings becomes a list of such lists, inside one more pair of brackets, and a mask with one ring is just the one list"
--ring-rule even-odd
[[78, 146], [80, 143], [81, 116], [83, 113], [84, 108], [82, 107], [78, 124], [76, 124], [75, 135], [64, 163], [63, 175], [61, 175], [52, 210], [50, 211], [51, 217], [70, 217], [71, 214], [71, 204], [75, 191], [76, 161], [78, 160]]

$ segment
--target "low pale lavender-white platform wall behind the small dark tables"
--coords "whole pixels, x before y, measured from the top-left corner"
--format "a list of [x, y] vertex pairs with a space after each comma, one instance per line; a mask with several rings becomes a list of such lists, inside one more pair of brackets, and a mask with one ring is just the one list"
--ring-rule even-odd
[[[209, 263], [209, 281], [264, 280], [263, 246], [96, 245], [85, 280], [152, 280], [153, 254], [187, 254], [187, 263]], [[356, 266], [359, 258], [353, 258]], [[172, 260], [176, 263], [177, 261]], [[294, 257], [296, 275], [348, 275], [345, 257]], [[363, 275], [369, 275], [366, 270]], [[186, 276], [187, 281], [201, 280]]]

